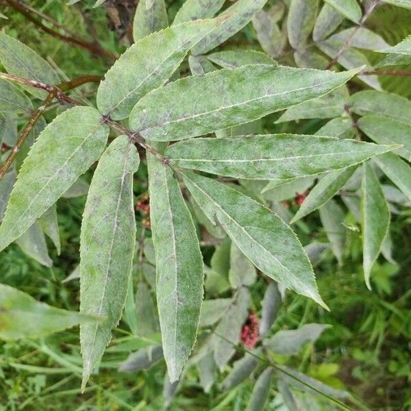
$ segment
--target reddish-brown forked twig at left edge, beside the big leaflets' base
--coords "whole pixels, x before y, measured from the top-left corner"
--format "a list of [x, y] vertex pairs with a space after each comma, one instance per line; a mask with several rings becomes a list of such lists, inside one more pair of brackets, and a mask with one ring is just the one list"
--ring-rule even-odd
[[[58, 84], [58, 86], [50, 86], [49, 84], [44, 84], [40, 82], [33, 82], [32, 80], [27, 80], [27, 79], [21, 79], [20, 77], [16, 77], [14, 75], [9, 75], [5, 73], [0, 73], [0, 78], [5, 78], [8, 79], [12, 82], [18, 82], [20, 84], [25, 84], [27, 86], [34, 86], [36, 88], [42, 88], [43, 90], [46, 90], [49, 92], [49, 95], [43, 101], [42, 105], [32, 114], [31, 119], [29, 119], [29, 122], [25, 127], [23, 128], [20, 136], [18, 136], [16, 140], [16, 144], [12, 148], [12, 151], [10, 151], [10, 154], [8, 155], [8, 158], [5, 160], [4, 164], [0, 167], [0, 179], [3, 178], [5, 173], [10, 169], [10, 166], [12, 165], [12, 162], [17, 156], [18, 151], [20, 151], [21, 147], [23, 147], [23, 144], [29, 136], [30, 132], [32, 131], [34, 125], [37, 123], [38, 119], [40, 119], [40, 116], [45, 112], [45, 110], [49, 107], [51, 102], [53, 101], [54, 98], [59, 98], [64, 100], [66, 103], [77, 103], [74, 100], [72, 100], [70, 97], [64, 95], [62, 90], [71, 90], [73, 88], [82, 86], [82, 84], [90, 83], [90, 82], [100, 82], [101, 77], [98, 76], [93, 76], [93, 75], [85, 75], [83, 77], [78, 77], [77, 79], [73, 79], [70, 82], [64, 82], [61, 84]], [[64, 95], [64, 98], [62, 97]]]

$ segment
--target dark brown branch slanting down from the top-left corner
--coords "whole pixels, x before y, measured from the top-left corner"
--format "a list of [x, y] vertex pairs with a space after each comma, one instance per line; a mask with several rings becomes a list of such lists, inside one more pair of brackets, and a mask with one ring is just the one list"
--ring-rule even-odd
[[[76, 45], [78, 47], [82, 47], [83, 49], [86, 49], [89, 53], [92, 55], [98, 55], [98, 56], [105, 56], [110, 58], [111, 60], [116, 60], [117, 56], [112, 53], [111, 51], [103, 49], [101, 45], [95, 44], [95, 42], [88, 42], [82, 38], [78, 38], [75, 36], [65, 36], [64, 34], [60, 34], [59, 32], [55, 32], [55, 30], [50, 29], [49, 27], [45, 26], [44, 24], [41, 23], [41, 21], [38, 21], [37, 18], [32, 16], [32, 13], [34, 14], [35, 12], [33, 11], [32, 8], [29, 8], [25, 3], [21, 1], [16, 1], [16, 0], [5, 0], [10, 7], [14, 8], [14, 10], [17, 10], [27, 20], [32, 21], [37, 27], [40, 27], [43, 32], [46, 32], [47, 34], [50, 34], [51, 36], [58, 38], [59, 40], [63, 40], [64, 42], [71, 43], [72, 45]], [[42, 18], [46, 18], [45, 14], [40, 14], [40, 12], [36, 12], [36, 14], [40, 15]], [[47, 20], [51, 21], [51, 23], [55, 24], [57, 22], [53, 21], [53, 18], [47, 16]], [[58, 27], [61, 28], [61, 25], [58, 24]], [[64, 28], [65, 29], [65, 28]], [[65, 29], [67, 32], [67, 29]]]

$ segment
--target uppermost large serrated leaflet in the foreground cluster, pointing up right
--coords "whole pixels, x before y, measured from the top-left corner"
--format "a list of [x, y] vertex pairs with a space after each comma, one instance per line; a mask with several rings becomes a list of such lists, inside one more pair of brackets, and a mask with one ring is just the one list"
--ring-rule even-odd
[[147, 92], [162, 86], [184, 57], [219, 20], [191, 21], [136, 42], [105, 73], [97, 91], [97, 107], [114, 120], [125, 119]]

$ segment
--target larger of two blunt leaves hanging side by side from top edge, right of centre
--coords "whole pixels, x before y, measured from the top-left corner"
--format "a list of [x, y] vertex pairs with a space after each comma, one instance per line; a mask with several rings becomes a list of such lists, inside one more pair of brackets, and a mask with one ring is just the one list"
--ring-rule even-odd
[[287, 18], [288, 41], [294, 49], [302, 48], [316, 20], [319, 0], [291, 0]]

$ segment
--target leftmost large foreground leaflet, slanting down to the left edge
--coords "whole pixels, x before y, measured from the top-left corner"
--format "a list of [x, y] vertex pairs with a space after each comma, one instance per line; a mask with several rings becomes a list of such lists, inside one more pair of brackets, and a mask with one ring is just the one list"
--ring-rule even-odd
[[99, 158], [108, 131], [101, 114], [90, 107], [66, 110], [47, 125], [18, 173], [0, 225], [0, 251], [26, 232]]

